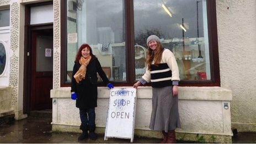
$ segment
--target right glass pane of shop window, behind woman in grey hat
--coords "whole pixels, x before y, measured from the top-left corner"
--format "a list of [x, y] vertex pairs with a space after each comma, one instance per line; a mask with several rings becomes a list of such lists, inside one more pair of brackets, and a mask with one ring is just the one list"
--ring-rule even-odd
[[146, 70], [146, 39], [151, 34], [173, 51], [180, 79], [211, 79], [206, 0], [134, 0], [134, 25], [136, 79]]

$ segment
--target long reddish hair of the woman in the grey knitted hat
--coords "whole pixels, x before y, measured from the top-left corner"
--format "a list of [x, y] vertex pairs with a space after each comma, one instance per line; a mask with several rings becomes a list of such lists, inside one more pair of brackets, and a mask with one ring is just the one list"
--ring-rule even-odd
[[147, 51], [148, 70], [151, 70], [151, 63], [153, 60], [154, 60], [154, 65], [158, 66], [158, 64], [161, 62], [162, 54], [163, 54], [163, 47], [160, 42], [157, 41], [157, 47], [156, 47], [156, 50], [154, 51], [150, 49], [150, 47], [148, 47], [148, 51]]

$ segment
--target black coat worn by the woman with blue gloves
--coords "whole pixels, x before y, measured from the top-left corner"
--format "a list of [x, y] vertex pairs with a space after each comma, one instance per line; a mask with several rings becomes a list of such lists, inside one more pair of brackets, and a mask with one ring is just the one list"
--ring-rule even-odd
[[77, 83], [76, 79], [74, 79], [74, 74], [76, 74], [80, 66], [81, 65], [79, 62], [74, 62], [72, 73], [71, 92], [77, 93], [76, 107], [81, 109], [95, 108], [97, 107], [98, 97], [97, 72], [102, 78], [104, 84], [108, 84], [109, 79], [106, 77], [105, 72], [102, 70], [102, 66], [100, 66], [98, 58], [92, 56], [87, 66], [86, 78]]

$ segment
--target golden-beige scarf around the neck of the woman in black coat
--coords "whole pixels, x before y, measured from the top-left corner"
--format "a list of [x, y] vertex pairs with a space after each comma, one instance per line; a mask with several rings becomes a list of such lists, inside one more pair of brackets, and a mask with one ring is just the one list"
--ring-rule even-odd
[[86, 78], [86, 69], [87, 69], [86, 67], [90, 62], [90, 58], [92, 58], [92, 56], [90, 56], [90, 55], [87, 58], [84, 58], [81, 56], [81, 58], [79, 60], [81, 67], [79, 68], [77, 73], [74, 74], [74, 79], [76, 79], [77, 83], [82, 81], [82, 79]]

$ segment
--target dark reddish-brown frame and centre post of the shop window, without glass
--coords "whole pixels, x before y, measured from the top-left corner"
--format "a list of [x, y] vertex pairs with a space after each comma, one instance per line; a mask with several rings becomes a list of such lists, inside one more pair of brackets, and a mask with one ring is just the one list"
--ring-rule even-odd
[[[218, 37], [216, 20], [216, 0], [207, 0], [207, 26], [209, 37], [209, 55], [211, 79], [206, 81], [181, 80], [179, 86], [220, 87], [220, 65], [218, 58]], [[61, 0], [61, 87], [71, 87], [71, 82], [65, 81], [67, 76], [67, 1]], [[133, 86], [135, 81], [135, 50], [134, 50], [134, 3], [133, 0], [124, 0], [125, 12], [125, 52], [127, 81], [113, 82], [116, 87]], [[129, 66], [129, 67], [128, 67]], [[104, 86], [99, 83], [98, 86]], [[145, 86], [151, 86], [146, 84]]]

